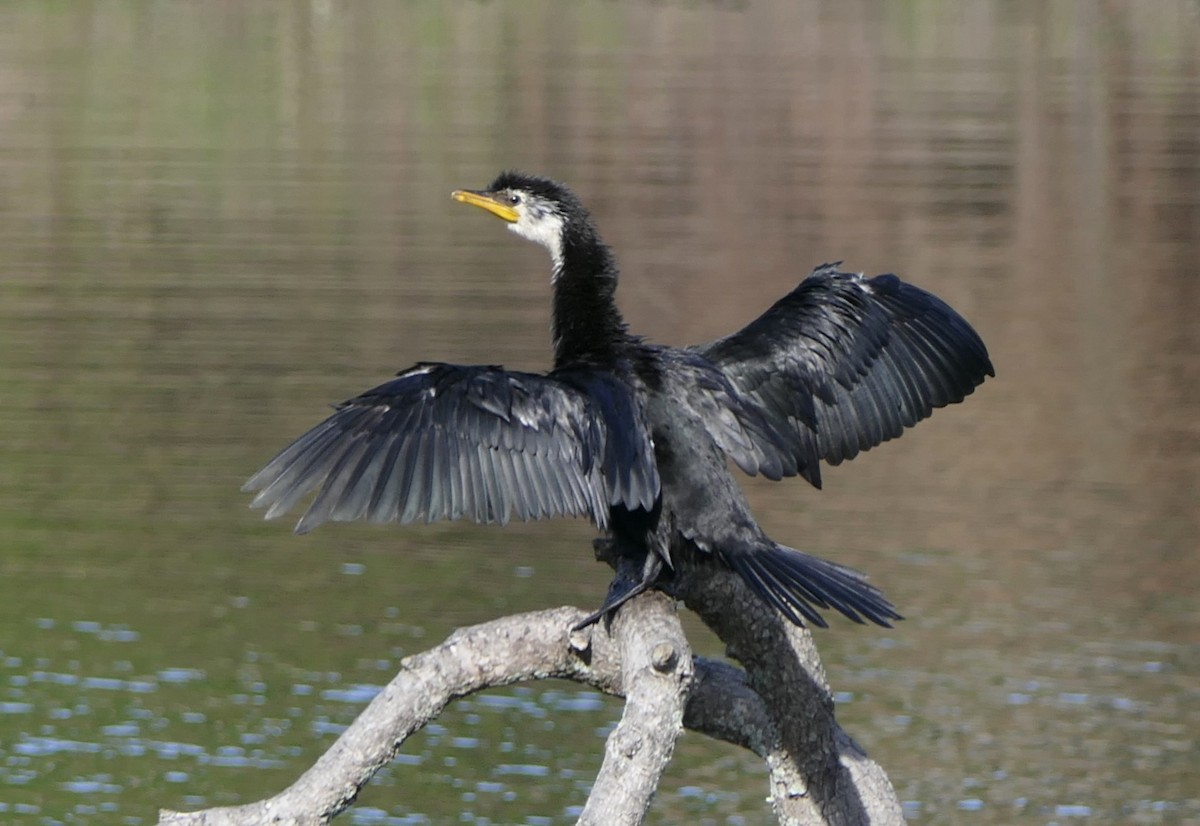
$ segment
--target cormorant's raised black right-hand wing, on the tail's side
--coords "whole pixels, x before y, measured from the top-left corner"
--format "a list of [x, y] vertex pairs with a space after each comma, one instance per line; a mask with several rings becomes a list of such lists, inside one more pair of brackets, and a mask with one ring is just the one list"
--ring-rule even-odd
[[[995, 376], [978, 334], [936, 295], [838, 264], [816, 268], [742, 330], [691, 349], [769, 423], [757, 429], [760, 448], [778, 455], [781, 475], [817, 487], [820, 460], [853, 459]], [[772, 462], [762, 467], [779, 478]]]

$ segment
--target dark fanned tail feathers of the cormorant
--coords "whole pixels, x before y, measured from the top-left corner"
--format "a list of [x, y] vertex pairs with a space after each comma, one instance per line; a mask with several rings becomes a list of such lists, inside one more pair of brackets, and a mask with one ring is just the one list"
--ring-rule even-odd
[[[721, 551], [725, 562], [756, 594], [797, 626], [804, 621], [828, 628], [818, 607], [835, 609], [857, 623], [870, 620], [884, 628], [904, 620], [866, 575], [793, 547], [766, 541]], [[802, 620], [803, 617], [804, 620]]]

